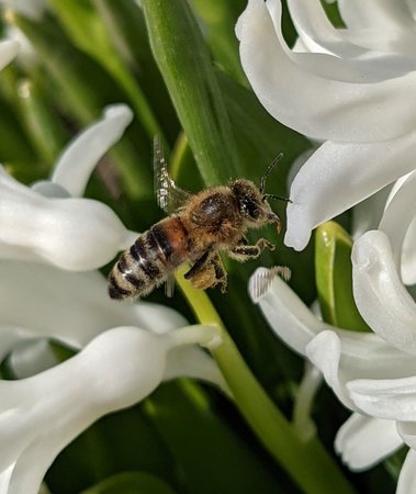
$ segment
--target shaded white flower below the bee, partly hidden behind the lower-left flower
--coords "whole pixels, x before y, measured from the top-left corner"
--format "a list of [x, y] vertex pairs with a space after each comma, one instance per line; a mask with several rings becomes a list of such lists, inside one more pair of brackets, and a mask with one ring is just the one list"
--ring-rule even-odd
[[[98, 271], [70, 272], [21, 261], [1, 261], [0, 270], [0, 361], [10, 353], [19, 377], [56, 363], [50, 350], [45, 352], [44, 345], [38, 345], [47, 338], [79, 350], [100, 333], [120, 325], [161, 335], [188, 324], [164, 305], [114, 303]], [[165, 379], [179, 375], [227, 391], [217, 366], [195, 347], [170, 351]]]

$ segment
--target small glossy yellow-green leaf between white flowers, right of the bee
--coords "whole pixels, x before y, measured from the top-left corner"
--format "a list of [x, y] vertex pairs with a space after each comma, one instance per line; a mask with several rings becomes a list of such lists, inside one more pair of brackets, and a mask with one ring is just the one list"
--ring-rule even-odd
[[327, 222], [316, 229], [315, 269], [321, 311], [326, 323], [369, 332], [353, 301], [351, 248], [351, 237], [337, 223]]

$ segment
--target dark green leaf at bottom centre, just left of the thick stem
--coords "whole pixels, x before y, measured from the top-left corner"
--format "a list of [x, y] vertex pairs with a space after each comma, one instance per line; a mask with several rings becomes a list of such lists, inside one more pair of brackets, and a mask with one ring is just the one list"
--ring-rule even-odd
[[[204, 390], [189, 380], [164, 384], [145, 402], [148, 420], [177, 461], [183, 492], [198, 494], [270, 494], [288, 479], [265, 457], [258, 444], [212, 409]], [[241, 426], [241, 424], [240, 424]], [[244, 426], [243, 426], [244, 427]]]

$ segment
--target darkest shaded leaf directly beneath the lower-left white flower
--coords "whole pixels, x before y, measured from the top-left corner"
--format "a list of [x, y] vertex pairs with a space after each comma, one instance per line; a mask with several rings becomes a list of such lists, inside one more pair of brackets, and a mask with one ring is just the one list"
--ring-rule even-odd
[[175, 463], [139, 406], [106, 415], [89, 427], [59, 453], [46, 481], [52, 492], [72, 494], [127, 471], [176, 484]]

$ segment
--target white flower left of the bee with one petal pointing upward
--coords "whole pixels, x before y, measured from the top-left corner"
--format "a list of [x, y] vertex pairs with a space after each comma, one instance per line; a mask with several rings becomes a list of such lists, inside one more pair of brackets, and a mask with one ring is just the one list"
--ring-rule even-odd
[[103, 120], [61, 155], [49, 181], [27, 188], [0, 168], [0, 258], [83, 271], [108, 263], [132, 244], [132, 232], [109, 206], [79, 198], [97, 161], [132, 116], [123, 104], [109, 106]]

